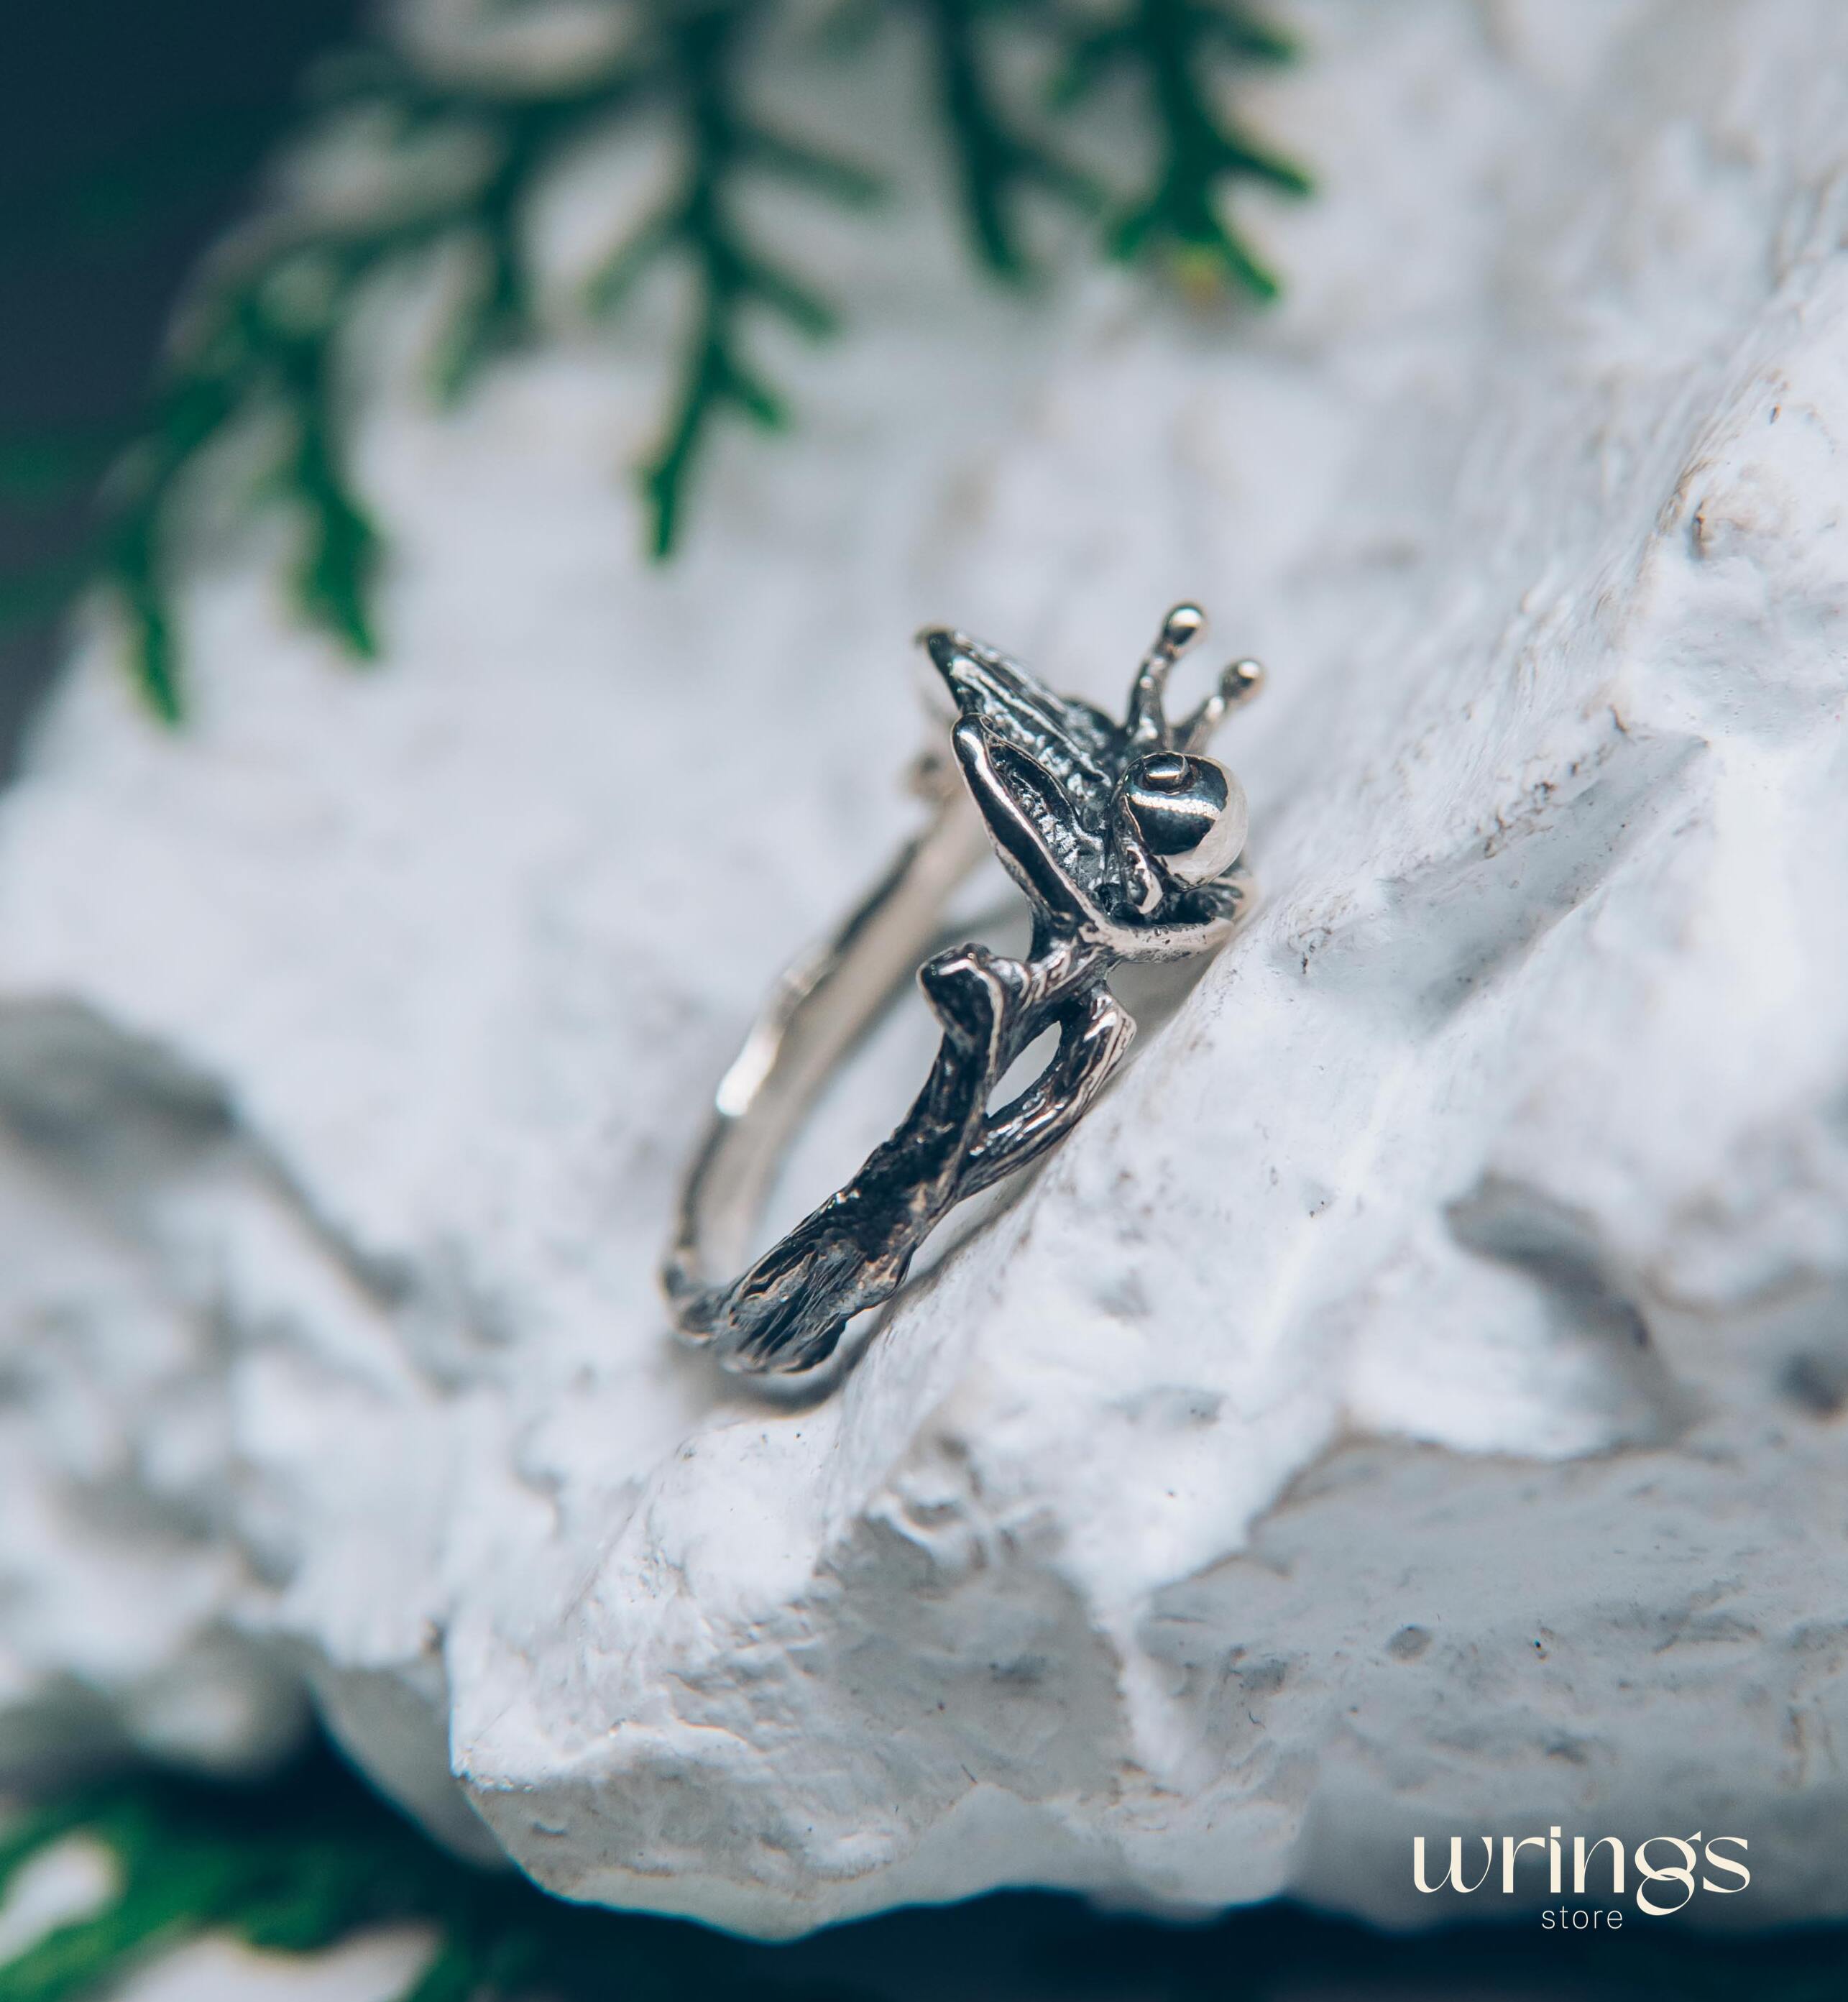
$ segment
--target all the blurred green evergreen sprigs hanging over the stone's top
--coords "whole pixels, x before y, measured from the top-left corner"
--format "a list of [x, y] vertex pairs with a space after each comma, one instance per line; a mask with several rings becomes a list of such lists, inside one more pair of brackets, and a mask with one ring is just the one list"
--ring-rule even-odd
[[[657, 262], [693, 280], [677, 386], [661, 442], [639, 468], [647, 545], [677, 547], [687, 496], [713, 424], [727, 412], [765, 428], [787, 404], [749, 356], [749, 322], [773, 314], [821, 338], [833, 306], [741, 214], [751, 176], [797, 184], [817, 198], [867, 206], [881, 178], [749, 104], [765, 30], [793, 0], [645, 0], [619, 54], [553, 80], [458, 82], [424, 76], [402, 52], [374, 46], [338, 64], [318, 90], [312, 130], [368, 110], [390, 132], [394, 174], [370, 210], [328, 214], [296, 204], [232, 240], [192, 288], [148, 408], [114, 438], [0, 438], [0, 494], [58, 498], [108, 470], [96, 488], [90, 545], [56, 569], [0, 579], [0, 619], [40, 619], [86, 581], [100, 581], [128, 621], [136, 681], [166, 721], [184, 711], [174, 629], [174, 503], [200, 454], [232, 426], [268, 418], [274, 464], [260, 496], [286, 505], [300, 543], [292, 599], [350, 657], [378, 651], [374, 591], [380, 531], [356, 490], [342, 422], [342, 332], [364, 286], [404, 260], [450, 246], [473, 252], [475, 278], [452, 308], [432, 358], [432, 388], [460, 396], [483, 366], [541, 334], [533, 198], [565, 150], [613, 120], [665, 116], [681, 182], [597, 272], [591, 316], [617, 312]], [[1289, 44], [1245, 0], [851, 0], [861, 26], [891, 14], [921, 24], [935, 104], [955, 164], [957, 198], [977, 260], [1025, 280], [1023, 208], [1051, 194], [1099, 222], [1107, 254], [1145, 260], [1185, 290], [1275, 294], [1275, 278], [1233, 226], [1225, 196], [1241, 182], [1293, 194], [1305, 176], [1249, 140], [1227, 116], [1225, 74], [1279, 62]], [[851, 40], [851, 38], [841, 38]], [[1021, 44], [1037, 42], [1055, 82], [1017, 82]], [[1029, 64], [1031, 66], [1031, 64]], [[1061, 150], [1053, 128], [1077, 116], [1105, 80], [1129, 86], [1153, 182], [1113, 196]], [[448, 144], [473, 172], [432, 190], [418, 160]], [[232, 148], [234, 152], [234, 148]], [[162, 156], [150, 184], [188, 184]], [[126, 190], [126, 192], [124, 192]], [[74, 218], [132, 208], [132, 172], [116, 162]], [[92, 190], [94, 194], [94, 190]], [[100, 206], [98, 206], [100, 204]], [[44, 216], [34, 216], [44, 226]]]

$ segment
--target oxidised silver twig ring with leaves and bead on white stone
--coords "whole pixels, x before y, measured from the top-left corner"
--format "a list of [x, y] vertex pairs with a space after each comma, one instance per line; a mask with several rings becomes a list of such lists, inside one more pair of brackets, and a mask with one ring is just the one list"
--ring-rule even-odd
[[[1211, 953], [1251, 909], [1245, 793], [1203, 753], [1263, 673], [1233, 661], [1185, 721], [1163, 711], [1169, 671], [1203, 631], [1193, 605], [1167, 615], [1123, 723], [1053, 695], [967, 633], [919, 635], [955, 701], [955, 769], [927, 767], [929, 825], [777, 983], [719, 1083], [681, 1191], [663, 1291], [679, 1333], [711, 1343], [727, 1369], [825, 1361], [857, 1313], [899, 1289], [949, 1209], [1035, 1161], [1097, 1099], [1135, 1033], [1111, 969]], [[1007, 959], [961, 945], [919, 967], [983, 835], [1027, 893], [1031, 949]], [[913, 973], [943, 1039], [911, 1111], [853, 1181], [739, 1277], [715, 1281], [741, 1263], [829, 1071]], [[989, 1111], [1009, 1065], [1047, 1029], [1059, 1035], [1047, 1067]]]

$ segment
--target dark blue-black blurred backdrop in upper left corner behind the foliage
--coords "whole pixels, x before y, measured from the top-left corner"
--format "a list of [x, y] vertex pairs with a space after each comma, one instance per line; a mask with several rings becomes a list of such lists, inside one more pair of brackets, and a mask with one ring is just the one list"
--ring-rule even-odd
[[358, 0], [0, 6], [0, 771], [56, 663], [88, 500], [186, 272]]

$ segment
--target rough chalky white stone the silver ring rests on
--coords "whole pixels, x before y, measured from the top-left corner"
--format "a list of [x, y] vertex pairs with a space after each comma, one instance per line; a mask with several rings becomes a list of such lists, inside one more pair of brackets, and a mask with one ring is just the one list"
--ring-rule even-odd
[[[82, 643], [0, 807], [8, 1768], [306, 1692], [450, 1840], [761, 1934], [1420, 1920], [1414, 1834], [1552, 1822], [1848, 1910], [1848, 14], [1291, 12], [1277, 310], [791, 208], [853, 332], [657, 575], [661, 328], [438, 418], [380, 306], [386, 667], [270, 547], [196, 565], [186, 733]], [[879, 152], [899, 54], [789, 116]], [[1263, 909], [835, 1395], [721, 1379], [673, 1177], [909, 825], [905, 635], [1113, 707], [1179, 597], [1273, 675]]]

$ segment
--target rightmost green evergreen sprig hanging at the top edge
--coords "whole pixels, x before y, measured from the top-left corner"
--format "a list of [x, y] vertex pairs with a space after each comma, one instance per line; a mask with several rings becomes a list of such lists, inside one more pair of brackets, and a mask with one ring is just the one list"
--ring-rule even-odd
[[1073, 38], [1059, 100], [1077, 102], [1107, 70], [1131, 70], [1159, 138], [1153, 186], [1111, 222], [1115, 256], [1167, 258], [1183, 282], [1217, 276], [1257, 298], [1277, 296], [1275, 276], [1225, 218], [1225, 190], [1255, 180], [1307, 194], [1309, 178], [1221, 116], [1215, 58], [1281, 62], [1289, 54], [1287, 38], [1235, 0], [1129, 0], [1119, 20]]

